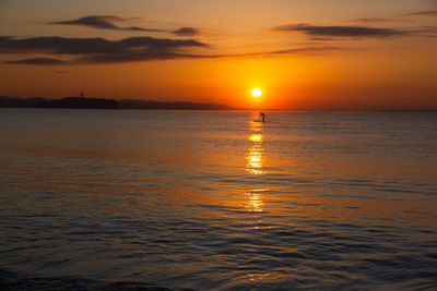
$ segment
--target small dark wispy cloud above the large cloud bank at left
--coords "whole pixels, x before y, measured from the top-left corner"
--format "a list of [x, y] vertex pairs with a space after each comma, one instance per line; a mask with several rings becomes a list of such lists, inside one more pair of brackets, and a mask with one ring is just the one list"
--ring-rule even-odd
[[123, 19], [113, 15], [96, 15], [85, 16], [72, 21], [59, 21], [50, 22], [54, 25], [80, 25], [98, 29], [114, 29], [114, 31], [134, 31], [134, 32], [161, 32], [160, 29], [143, 28], [138, 26], [120, 27], [114, 24], [114, 22], [129, 22], [133, 19]]

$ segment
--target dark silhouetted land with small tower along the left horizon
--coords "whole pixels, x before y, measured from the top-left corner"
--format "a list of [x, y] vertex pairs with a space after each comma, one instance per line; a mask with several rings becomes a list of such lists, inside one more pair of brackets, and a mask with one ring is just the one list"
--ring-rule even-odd
[[149, 110], [232, 110], [226, 105], [187, 101], [115, 100], [107, 98], [66, 97], [62, 99], [12, 98], [0, 96], [0, 108], [149, 109]]

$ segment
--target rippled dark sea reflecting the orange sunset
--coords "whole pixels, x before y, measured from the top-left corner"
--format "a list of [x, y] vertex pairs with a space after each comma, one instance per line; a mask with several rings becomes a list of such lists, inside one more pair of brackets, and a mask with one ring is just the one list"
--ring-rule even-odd
[[437, 289], [437, 113], [255, 119], [1, 109], [1, 284]]

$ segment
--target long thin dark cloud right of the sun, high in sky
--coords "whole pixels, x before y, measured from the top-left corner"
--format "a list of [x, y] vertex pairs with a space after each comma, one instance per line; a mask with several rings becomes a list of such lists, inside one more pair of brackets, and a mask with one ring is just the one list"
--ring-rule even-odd
[[392, 36], [401, 36], [406, 32], [393, 28], [374, 28], [366, 26], [316, 26], [310, 24], [285, 24], [272, 28], [273, 32], [280, 33], [297, 33], [311, 37], [371, 37], [385, 38]]

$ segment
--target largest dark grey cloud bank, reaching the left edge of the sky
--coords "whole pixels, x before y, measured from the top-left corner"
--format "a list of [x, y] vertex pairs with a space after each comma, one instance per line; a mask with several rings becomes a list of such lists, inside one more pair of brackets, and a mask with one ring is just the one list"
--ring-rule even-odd
[[[43, 53], [50, 56], [50, 58], [8, 61], [8, 63], [27, 64], [117, 63], [198, 58], [199, 56], [186, 52], [187, 49], [196, 47], [208, 48], [209, 46], [193, 39], [153, 37], [130, 37], [121, 40], [64, 37], [14, 39], [0, 37], [1, 53]], [[52, 56], [67, 57], [69, 59], [57, 59], [52, 58]]]

